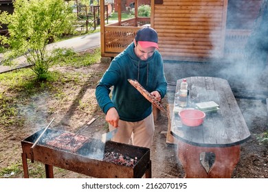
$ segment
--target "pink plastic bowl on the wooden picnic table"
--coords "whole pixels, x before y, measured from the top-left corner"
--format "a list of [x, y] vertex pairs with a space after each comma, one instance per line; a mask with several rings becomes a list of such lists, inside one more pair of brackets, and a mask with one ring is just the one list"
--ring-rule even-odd
[[196, 109], [185, 109], [179, 112], [181, 123], [189, 127], [196, 127], [203, 123], [205, 112]]

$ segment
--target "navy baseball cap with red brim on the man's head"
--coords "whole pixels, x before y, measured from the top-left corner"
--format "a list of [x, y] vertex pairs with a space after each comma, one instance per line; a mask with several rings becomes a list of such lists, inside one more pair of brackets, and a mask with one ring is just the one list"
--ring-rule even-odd
[[158, 48], [158, 36], [155, 29], [151, 27], [144, 27], [137, 31], [135, 40], [139, 42], [142, 48], [155, 47]]

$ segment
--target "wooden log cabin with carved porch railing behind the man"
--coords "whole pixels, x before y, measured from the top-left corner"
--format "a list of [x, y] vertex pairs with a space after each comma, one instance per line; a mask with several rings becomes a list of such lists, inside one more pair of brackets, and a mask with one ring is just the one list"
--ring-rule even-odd
[[[159, 34], [159, 51], [164, 60], [237, 58], [243, 55], [243, 46], [258, 16], [261, 1], [151, 0], [149, 23]], [[102, 7], [102, 1], [100, 3]], [[120, 0], [118, 3], [120, 15]], [[135, 18], [126, 21], [129, 25], [122, 25], [125, 22], [121, 21], [121, 16], [118, 23], [111, 25], [101, 21], [102, 56], [114, 57], [131, 43], [135, 32], [142, 26], [139, 22], [142, 18], [137, 16], [137, 4], [135, 0]], [[113, 38], [115, 31], [120, 36]], [[115, 42], [117, 45], [113, 46]]]

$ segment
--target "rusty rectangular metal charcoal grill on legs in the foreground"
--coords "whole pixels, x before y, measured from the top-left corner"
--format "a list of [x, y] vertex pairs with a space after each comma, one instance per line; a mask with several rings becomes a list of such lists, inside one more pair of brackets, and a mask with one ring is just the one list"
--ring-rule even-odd
[[[27, 159], [31, 159], [32, 163], [44, 163], [47, 178], [54, 178], [53, 166], [93, 178], [142, 178], [144, 174], [146, 178], [151, 178], [150, 149], [113, 141], [102, 143], [96, 139], [88, 139], [82, 145], [70, 149], [47, 145], [66, 133], [42, 129], [21, 141], [24, 178], [29, 178]], [[120, 158], [128, 156], [135, 163], [118, 164], [105, 159], [104, 156], [107, 157], [107, 154], [120, 154]]]

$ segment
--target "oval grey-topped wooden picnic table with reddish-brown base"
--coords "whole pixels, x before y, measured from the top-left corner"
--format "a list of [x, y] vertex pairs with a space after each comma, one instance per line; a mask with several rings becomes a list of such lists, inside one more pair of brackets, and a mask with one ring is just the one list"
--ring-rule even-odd
[[[240, 159], [240, 145], [250, 137], [249, 129], [227, 80], [218, 77], [187, 77], [188, 106], [214, 101], [218, 110], [205, 112], [202, 125], [188, 127], [180, 121], [175, 98], [171, 119], [177, 139], [178, 157], [186, 178], [231, 178]], [[177, 80], [176, 93], [182, 82]]]

